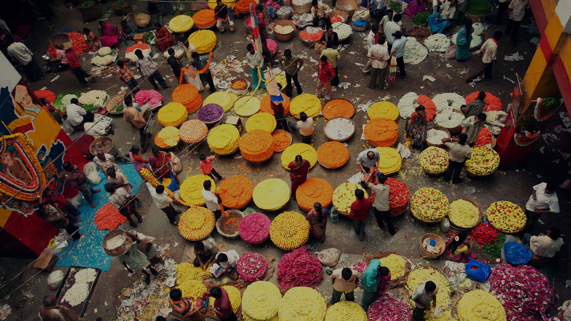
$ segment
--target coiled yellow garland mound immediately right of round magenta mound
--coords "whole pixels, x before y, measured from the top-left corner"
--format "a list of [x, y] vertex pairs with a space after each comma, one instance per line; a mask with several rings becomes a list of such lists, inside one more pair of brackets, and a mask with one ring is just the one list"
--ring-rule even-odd
[[270, 239], [282, 250], [294, 250], [307, 242], [309, 223], [298, 212], [283, 212], [272, 220]]

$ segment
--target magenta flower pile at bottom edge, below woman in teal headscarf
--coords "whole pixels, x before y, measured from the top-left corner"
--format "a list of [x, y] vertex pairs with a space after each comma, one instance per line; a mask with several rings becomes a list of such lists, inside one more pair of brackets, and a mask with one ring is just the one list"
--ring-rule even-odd
[[369, 306], [367, 311], [369, 320], [372, 321], [409, 321], [412, 318], [408, 304], [384, 293]]

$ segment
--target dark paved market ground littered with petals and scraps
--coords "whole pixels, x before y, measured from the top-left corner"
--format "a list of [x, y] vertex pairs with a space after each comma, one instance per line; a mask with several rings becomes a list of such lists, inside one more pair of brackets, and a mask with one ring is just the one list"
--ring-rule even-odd
[[[138, 3], [137, 9], [135, 11], [143, 11], [143, 4]], [[97, 21], [90, 23], [81, 23], [81, 17], [77, 10], [68, 10], [63, 5], [58, 2], [57, 6], [53, 6], [55, 19], [51, 21], [39, 21], [36, 23], [31, 30], [30, 36], [25, 41], [26, 45], [35, 53], [35, 59], [40, 65], [43, 65], [41, 60], [41, 55], [47, 49], [49, 42], [49, 37], [58, 33], [59, 30], [80, 30], [83, 27], [89, 27], [91, 30], [96, 30]], [[103, 5], [102, 8], [106, 9], [107, 14], [104, 13], [104, 17], [108, 17], [107, 22], [119, 25], [119, 21], [122, 19], [116, 17], [114, 14], [109, 15], [108, 10], [110, 10], [110, 5]], [[167, 15], [165, 18], [168, 21], [172, 16]], [[493, 18], [493, 15], [491, 16]], [[411, 21], [408, 17], [403, 19], [404, 24], [410, 28], [412, 27]], [[505, 22], [504, 22], [505, 23]], [[524, 24], [527, 25], [531, 23], [526, 21]], [[216, 30], [216, 35], [218, 37], [218, 45], [215, 49], [215, 61], [219, 62], [220, 59], [225, 58], [227, 55], [235, 55], [238, 59], [243, 59], [246, 54], [246, 38], [244, 37], [244, 28], [242, 26], [242, 21], [237, 20], [236, 23], [236, 33], [232, 34], [226, 32], [220, 35], [218, 30]], [[500, 26], [501, 28], [505, 25]], [[448, 30], [451, 30], [449, 28]], [[472, 71], [477, 70], [481, 66], [481, 62], [475, 59], [476, 56], [471, 56], [468, 63], [457, 64], [453, 60], [444, 59], [442, 54], [429, 53], [427, 58], [421, 62], [419, 65], [409, 66], [407, 65], [407, 80], [401, 81], [397, 77], [395, 82], [392, 82], [392, 88], [384, 91], [370, 90], [365, 87], [368, 83], [368, 77], [364, 77], [361, 73], [360, 66], [355, 65], [355, 63], [365, 63], [366, 46], [365, 37], [368, 33], [353, 33], [349, 39], [350, 46], [341, 51], [341, 63], [339, 66], [339, 73], [341, 75], [341, 82], [349, 82], [351, 86], [348, 89], [337, 88], [333, 91], [333, 98], [344, 97], [347, 99], [358, 99], [354, 103], [358, 105], [359, 103], [366, 103], [369, 101], [377, 102], [381, 98], [385, 100], [390, 100], [393, 103], [397, 103], [398, 100], [409, 91], [415, 91], [417, 94], [426, 94], [429, 97], [434, 97], [438, 93], [448, 93], [456, 92], [464, 97], [468, 94], [473, 93], [473, 91], [488, 91], [497, 97], [500, 97], [502, 103], [505, 105], [510, 101], [510, 93], [513, 91], [513, 85], [511, 82], [504, 80], [505, 77], [515, 79], [516, 73], [519, 75], [524, 75], [529, 65], [529, 62], [533, 56], [536, 46], [529, 42], [529, 39], [535, 37], [536, 35], [528, 33], [528, 28], [522, 27], [520, 34], [520, 45], [519, 47], [513, 48], [509, 45], [508, 39], [501, 39], [498, 47], [498, 61], [499, 64], [494, 66], [494, 79], [490, 82], [479, 82], [475, 87], [467, 86], [464, 82], [465, 77], [472, 73]], [[537, 28], [530, 28], [529, 30], [537, 30]], [[493, 34], [496, 29], [493, 26], [488, 28], [488, 33]], [[451, 33], [451, 31], [448, 31]], [[132, 45], [132, 42], [129, 43]], [[284, 50], [289, 48], [294, 54], [301, 54], [301, 51], [307, 49], [296, 36], [289, 42], [283, 43], [278, 42], [279, 50]], [[125, 47], [123, 45], [119, 46], [122, 52], [120, 57], [123, 57], [123, 51]], [[349, 54], [350, 51], [356, 51], [355, 54]], [[511, 55], [518, 51], [522, 57], [525, 59], [522, 61], [504, 61], [504, 55]], [[153, 54], [156, 53], [153, 49]], [[317, 54], [313, 53], [313, 49], [305, 51], [308, 57], [313, 57], [317, 59]], [[151, 54], [152, 55], [152, 54]], [[90, 59], [90, 56], [87, 55]], [[156, 61], [163, 62], [163, 58], [160, 57]], [[447, 67], [449, 63], [452, 67]], [[89, 70], [89, 61], [83, 63], [84, 69]], [[165, 102], [170, 102], [170, 95], [174, 87], [176, 87], [175, 81], [173, 81], [172, 70], [168, 65], [162, 65], [160, 67], [160, 72], [163, 75], [171, 75], [167, 79], [167, 82], [172, 85], [172, 89], [160, 90], [165, 97]], [[468, 73], [466, 71], [468, 70]], [[316, 66], [306, 59], [306, 64], [304, 69], [300, 72], [299, 79], [301, 80], [301, 86], [306, 93], [313, 93], [316, 84], [316, 77], [312, 77], [312, 74], [316, 72]], [[235, 75], [236, 73], [232, 73]], [[46, 86], [47, 89], [54, 91], [56, 94], [67, 92], [67, 91], [83, 91], [79, 86], [79, 83], [70, 72], [59, 73], [59, 79], [54, 82], [50, 82], [54, 78], [54, 74], [49, 74], [41, 82], [30, 83], [30, 86], [34, 90], [41, 89]], [[423, 75], [432, 75], [436, 78], [435, 82], [422, 81]], [[242, 76], [244, 76], [242, 74]], [[449, 76], [449, 77], [448, 77]], [[224, 80], [224, 79], [222, 79]], [[355, 85], [360, 85], [356, 87]], [[119, 87], [123, 83], [113, 75], [108, 78], [97, 78], [95, 82], [91, 83], [91, 89], [98, 90], [108, 90], [112, 95], [115, 94]], [[148, 82], [142, 83], [142, 89], [152, 89]], [[202, 92], [203, 99], [207, 97], [207, 91]], [[115, 136], [112, 139], [115, 145], [119, 149], [119, 154], [124, 155], [128, 152], [132, 145], [128, 143], [138, 143], [138, 130], [133, 130], [131, 125], [125, 123], [122, 117], [111, 116], [114, 121], [113, 125], [115, 127]], [[194, 115], [191, 115], [194, 117]], [[347, 141], [350, 160], [344, 167], [337, 170], [325, 169], [319, 164], [312, 168], [309, 172], [309, 177], [321, 177], [325, 178], [332, 184], [333, 187], [338, 186], [340, 183], [346, 182], [347, 178], [355, 174], [357, 166], [354, 162], [357, 154], [368, 148], [367, 142], [360, 139], [361, 135], [361, 125], [367, 122], [367, 117], [365, 113], [358, 111], [353, 116], [352, 120], [356, 124], [356, 134]], [[245, 121], [245, 119], [243, 120]], [[316, 135], [313, 136], [313, 146], [317, 149], [323, 142], [326, 141], [323, 135], [323, 125], [324, 119], [320, 117], [316, 121]], [[561, 125], [560, 119], [557, 118], [552, 126]], [[399, 122], [400, 137], [399, 142], [404, 143], [404, 121]], [[158, 129], [155, 129], [155, 133]], [[74, 133], [72, 138], [78, 137], [83, 132]], [[549, 129], [548, 134], [552, 134], [553, 130]], [[561, 153], [571, 153], [569, 148], [569, 139], [571, 138], [569, 133], [555, 133], [560, 141], [554, 141], [548, 144], [543, 139], [540, 140], [533, 154], [530, 156], [528, 162], [520, 167], [514, 167], [511, 169], [498, 170], [494, 174], [483, 178], [469, 178], [464, 177], [465, 180], [461, 184], [453, 185], [448, 184], [443, 181], [442, 178], [429, 176], [421, 172], [418, 162], [418, 154], [415, 153], [409, 159], [403, 160], [403, 166], [399, 172], [391, 175], [391, 177], [403, 180], [412, 192], [416, 191], [420, 187], [431, 186], [438, 188], [443, 191], [449, 199], [455, 199], [464, 197], [464, 190], [468, 187], [475, 187], [476, 193], [469, 196], [469, 198], [475, 200], [480, 204], [482, 208], [488, 204], [495, 202], [496, 200], [509, 200], [514, 203], [523, 205], [526, 202], [530, 194], [531, 187], [534, 184], [544, 182], [548, 179], [562, 179], [568, 174], [566, 173], [568, 168], [568, 163], [564, 159]], [[300, 142], [300, 138], [294, 135], [294, 142]], [[150, 145], [147, 146], [147, 148]], [[545, 146], [545, 147], [544, 147]], [[544, 147], [544, 148], [543, 148]], [[180, 172], [180, 178], [184, 179], [186, 176], [198, 174], [198, 152], [203, 152], [206, 154], [211, 154], [206, 143], [200, 145], [198, 150], [193, 151], [188, 155], [181, 156], [183, 160], [183, 171]], [[560, 153], [561, 152], [561, 153]], [[239, 154], [239, 153], [238, 153]], [[145, 154], [148, 157], [150, 153]], [[559, 159], [558, 163], [556, 161]], [[280, 178], [289, 183], [288, 172], [280, 164], [280, 154], [274, 154], [274, 156], [263, 164], [262, 167], [254, 167], [250, 163], [244, 161], [244, 159], [235, 159], [234, 155], [228, 157], [221, 157], [215, 160], [216, 169], [222, 173], [224, 176], [228, 177], [231, 175], [246, 175], [250, 178], [254, 184], [267, 179], [267, 178]], [[464, 176], [464, 174], [463, 174]], [[144, 188], [142, 188], [144, 191]], [[106, 196], [105, 192], [102, 192], [98, 197]], [[541, 220], [545, 224], [537, 224], [534, 233], [545, 232], [546, 228], [549, 226], [558, 226], [564, 232], [569, 230], [569, 206], [571, 203], [569, 193], [563, 190], [558, 190], [557, 194], [560, 199], [561, 213], [554, 215], [544, 215]], [[142, 194], [143, 202], [145, 206], [142, 208], [144, 215], [144, 222], [140, 224], [138, 231], [144, 234], [155, 236], [157, 238], [157, 243], [168, 243], [170, 244], [170, 250], [168, 251], [169, 257], [176, 260], [176, 262], [184, 262], [187, 260], [187, 256], [184, 252], [192, 246], [192, 242], [184, 240], [178, 233], [176, 227], [168, 224], [167, 219], [164, 217], [163, 213], [158, 210], [154, 205], [152, 205], [150, 196], [148, 192]], [[251, 207], [257, 208], [252, 202]], [[291, 211], [299, 211], [295, 201], [290, 201], [288, 203], [288, 209]], [[276, 214], [270, 213], [270, 218], [274, 218]], [[341, 217], [338, 223], [328, 223], [327, 228], [327, 239], [325, 243], [321, 244], [313, 239], [310, 239], [308, 244], [313, 246], [313, 251], [318, 251], [328, 247], [339, 248], [343, 255], [341, 257], [340, 264], [352, 264], [357, 260], [362, 258], [363, 254], [373, 254], [380, 251], [397, 251], [398, 254], [404, 255], [410, 258], [413, 262], [416, 262], [419, 255], [419, 238], [421, 235], [429, 231], [437, 231], [437, 226], [435, 224], [422, 224], [417, 220], [412, 218], [410, 212], [405, 212], [399, 218], [395, 220], [395, 224], [400, 228], [400, 231], [395, 236], [390, 236], [386, 230], [380, 230], [376, 227], [375, 220], [373, 216], [369, 216], [369, 221], [367, 223], [367, 235], [363, 242], [360, 242], [355, 232], [352, 229], [352, 223], [348, 218]], [[274, 255], [278, 260], [285, 253], [285, 251], [276, 248], [270, 240], [260, 246], [252, 247], [248, 246], [242, 240], [231, 240], [220, 236], [218, 233], [214, 232], [213, 236], [218, 242], [222, 242], [227, 246], [227, 248], [235, 248], [240, 254], [245, 251], [258, 251], [262, 254]], [[566, 242], [571, 242], [565, 237]], [[558, 294], [559, 298], [557, 303], [560, 304], [564, 300], [571, 298], [571, 290], [565, 288], [565, 280], [569, 279], [570, 267], [566, 258], [569, 257], [570, 247], [565, 245], [556, 258], [548, 264], [547, 267], [542, 268], [541, 271], [548, 275], [552, 286]], [[486, 258], [486, 255], [480, 250], [476, 249], [478, 255], [482, 258]], [[11, 278], [17, 271], [22, 267], [25, 267], [30, 260], [24, 259], [12, 259], [12, 258], [1, 258], [0, 259], [0, 276], [2, 282]], [[420, 260], [419, 263], [425, 263], [428, 261]], [[435, 264], [443, 266], [444, 261], [431, 261], [429, 264]], [[65, 271], [66, 268], [63, 268]], [[21, 288], [14, 291], [9, 299], [4, 300], [0, 303], [7, 303], [15, 311], [8, 317], [8, 320], [36, 320], [38, 308], [41, 305], [41, 298], [46, 294], [53, 294], [54, 292], [48, 290], [46, 284], [47, 273], [41, 272], [37, 275], [37, 270], [35, 268], [30, 268], [26, 270], [22, 275], [15, 278], [6, 286], [0, 289], [0, 294], [2, 298], [6, 294], [14, 291], [14, 289], [26, 282]], [[113, 319], [115, 314], [114, 306], [120, 302], [119, 294], [123, 288], [131, 286], [135, 282], [136, 278], [140, 278], [140, 274], [128, 277], [127, 271], [119, 264], [118, 260], [113, 260], [111, 263], [110, 271], [104, 272], [99, 279], [96, 286], [95, 292], [89, 303], [87, 313], [85, 318], [95, 319], [96, 316], [100, 315], [104, 320]], [[272, 278], [272, 282], [275, 282], [275, 275]], [[331, 295], [331, 285], [327, 280], [321, 282], [318, 290], [325, 296], [329, 297]], [[29, 292], [33, 294], [32, 298], [26, 298], [23, 296], [22, 291]], [[360, 294], [357, 295], [360, 299]], [[95, 313], [94, 309], [98, 312]]]

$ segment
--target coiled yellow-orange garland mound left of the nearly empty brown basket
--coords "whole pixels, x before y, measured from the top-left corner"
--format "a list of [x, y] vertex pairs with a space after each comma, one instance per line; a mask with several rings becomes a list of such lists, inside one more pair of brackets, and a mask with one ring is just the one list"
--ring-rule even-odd
[[180, 215], [179, 232], [187, 240], [206, 238], [214, 230], [214, 213], [208, 208], [191, 206]]

